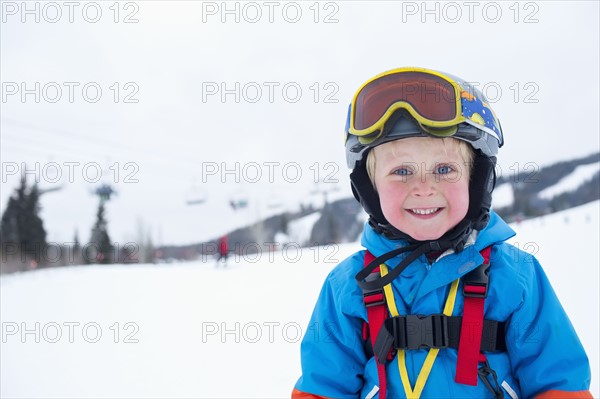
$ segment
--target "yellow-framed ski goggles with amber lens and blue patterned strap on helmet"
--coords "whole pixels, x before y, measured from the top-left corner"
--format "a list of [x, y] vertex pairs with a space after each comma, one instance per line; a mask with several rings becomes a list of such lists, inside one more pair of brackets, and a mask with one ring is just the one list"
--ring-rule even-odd
[[500, 124], [483, 94], [466, 82], [423, 68], [394, 69], [365, 82], [350, 104], [347, 132], [363, 143], [372, 142], [401, 109], [432, 135], [451, 136], [466, 122], [502, 145]]

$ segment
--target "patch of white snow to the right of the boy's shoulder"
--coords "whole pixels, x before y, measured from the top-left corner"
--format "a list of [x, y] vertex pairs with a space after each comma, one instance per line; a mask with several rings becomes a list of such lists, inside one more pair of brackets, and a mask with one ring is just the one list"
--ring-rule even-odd
[[600, 397], [600, 201], [511, 225], [513, 245], [532, 253], [586, 348], [591, 391]]

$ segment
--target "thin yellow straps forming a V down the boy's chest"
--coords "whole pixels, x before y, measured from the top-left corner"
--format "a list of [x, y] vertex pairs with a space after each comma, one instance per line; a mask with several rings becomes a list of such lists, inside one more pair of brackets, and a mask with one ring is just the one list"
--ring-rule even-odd
[[[385, 264], [381, 264], [379, 266], [379, 269], [381, 276], [385, 276], [388, 272], [387, 266]], [[388, 304], [388, 309], [390, 310], [392, 317], [399, 316], [391, 284], [387, 284], [385, 287], [383, 287], [383, 291], [385, 293], [385, 300]], [[456, 301], [457, 291], [458, 280], [455, 280], [450, 286], [450, 292], [448, 293], [448, 298], [446, 299], [446, 304], [444, 305], [444, 315], [446, 316], [452, 316], [452, 310], [454, 309], [454, 302]], [[404, 392], [406, 393], [407, 399], [419, 399], [421, 397], [421, 393], [423, 392], [423, 388], [425, 388], [425, 383], [427, 383], [427, 378], [429, 378], [429, 373], [431, 372], [431, 368], [433, 367], [433, 363], [435, 362], [435, 358], [439, 351], [439, 349], [435, 348], [429, 349], [427, 357], [425, 358], [425, 362], [423, 363], [423, 367], [421, 367], [421, 371], [419, 372], [419, 376], [417, 377], [415, 389], [413, 390], [410, 387], [408, 370], [406, 369], [405, 351], [398, 350], [398, 368], [400, 370], [400, 378], [402, 379], [402, 386], [404, 386]]]

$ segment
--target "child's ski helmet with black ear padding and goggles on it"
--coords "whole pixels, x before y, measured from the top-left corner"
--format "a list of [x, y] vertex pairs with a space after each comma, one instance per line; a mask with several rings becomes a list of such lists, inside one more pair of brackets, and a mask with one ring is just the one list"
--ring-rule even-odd
[[423, 68], [399, 68], [379, 74], [354, 95], [345, 136], [352, 192], [377, 232], [418, 243], [386, 220], [366, 168], [370, 150], [407, 137], [453, 137], [473, 148], [469, 209], [465, 218], [438, 240], [450, 242], [450, 247], [460, 251], [473, 230], [487, 225], [496, 155], [504, 141], [487, 98], [472, 84]]

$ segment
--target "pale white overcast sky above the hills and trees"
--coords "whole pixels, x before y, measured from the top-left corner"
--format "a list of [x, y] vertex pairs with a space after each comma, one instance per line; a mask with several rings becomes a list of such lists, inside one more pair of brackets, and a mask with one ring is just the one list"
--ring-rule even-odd
[[42, 197], [55, 242], [89, 239], [101, 183], [119, 243], [206, 240], [311, 201], [315, 180], [349, 195], [347, 105], [400, 66], [484, 90], [503, 175], [600, 148], [597, 1], [1, 5], [0, 203], [37, 163], [30, 181], [62, 187]]

